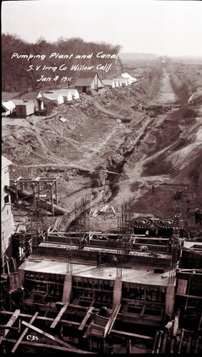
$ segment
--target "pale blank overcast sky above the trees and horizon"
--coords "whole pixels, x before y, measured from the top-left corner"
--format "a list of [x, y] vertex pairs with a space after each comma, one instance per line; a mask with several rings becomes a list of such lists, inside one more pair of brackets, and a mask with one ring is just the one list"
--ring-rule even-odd
[[201, 1], [2, 1], [1, 32], [29, 42], [81, 37], [121, 52], [202, 56]]

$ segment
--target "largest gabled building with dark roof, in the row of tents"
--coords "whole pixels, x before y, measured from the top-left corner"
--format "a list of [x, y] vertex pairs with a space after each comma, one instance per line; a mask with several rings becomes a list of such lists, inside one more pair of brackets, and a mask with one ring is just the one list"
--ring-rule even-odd
[[99, 91], [104, 87], [104, 84], [96, 72], [89, 72], [81, 74], [79, 79], [76, 79], [74, 86], [80, 93], [87, 93], [91, 89]]

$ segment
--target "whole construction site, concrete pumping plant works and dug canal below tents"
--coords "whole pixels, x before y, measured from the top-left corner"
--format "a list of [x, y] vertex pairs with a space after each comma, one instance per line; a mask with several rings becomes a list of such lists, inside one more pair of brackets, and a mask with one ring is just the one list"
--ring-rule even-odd
[[202, 102], [161, 70], [2, 121], [1, 353], [201, 353]]

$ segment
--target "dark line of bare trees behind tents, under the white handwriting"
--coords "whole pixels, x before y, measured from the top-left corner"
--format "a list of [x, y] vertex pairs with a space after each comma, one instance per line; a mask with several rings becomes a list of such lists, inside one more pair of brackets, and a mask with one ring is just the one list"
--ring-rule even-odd
[[[99, 73], [102, 79], [114, 75], [117, 71], [122, 69], [121, 60], [97, 58], [96, 54], [103, 52], [103, 54], [116, 55], [121, 49], [119, 45], [107, 44], [106, 42], [86, 42], [81, 38], [65, 39], [59, 38], [55, 42], [46, 41], [40, 38], [36, 43], [29, 43], [19, 38], [16, 34], [2, 34], [1, 36], [1, 70], [2, 70], [2, 91], [26, 91], [43, 88], [46, 86], [44, 81], [38, 81], [42, 75], [51, 78], [51, 85], [59, 85], [62, 76], [71, 77], [72, 81], [68, 84], [74, 84], [74, 80], [79, 78], [80, 71], [71, 71], [71, 66], [77, 64], [86, 64], [87, 66], [94, 66], [95, 71]], [[74, 54], [69, 59], [60, 59], [49, 56], [52, 53], [59, 54]], [[88, 59], [76, 59], [77, 55], [94, 54]], [[14, 54], [33, 55], [30, 59], [17, 58]], [[46, 55], [45, 59], [36, 58], [36, 55]], [[11, 59], [11, 57], [13, 58]], [[39, 57], [39, 56], [37, 56]], [[103, 70], [96, 70], [98, 64], [113, 63], [111, 71], [106, 73]], [[59, 67], [66, 64], [66, 70], [59, 71]], [[38, 66], [38, 67], [36, 67]], [[49, 69], [44, 69], [44, 66]], [[57, 67], [51, 69], [51, 67]], [[38, 70], [36, 70], [38, 68]], [[34, 69], [34, 70], [33, 70]], [[59, 76], [59, 80], [54, 82], [53, 79]], [[64, 82], [65, 83], [65, 82]], [[66, 82], [67, 84], [67, 82]]]

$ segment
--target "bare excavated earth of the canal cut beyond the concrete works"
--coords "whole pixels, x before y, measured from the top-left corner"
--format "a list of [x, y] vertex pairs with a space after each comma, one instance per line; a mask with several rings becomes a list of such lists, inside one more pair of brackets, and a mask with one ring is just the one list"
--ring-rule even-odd
[[[187, 208], [202, 208], [201, 106], [176, 107], [165, 69], [161, 81], [152, 68], [142, 69], [142, 74], [143, 81], [128, 88], [99, 96], [83, 94], [79, 102], [56, 108], [51, 118], [3, 120], [2, 154], [14, 163], [11, 177], [59, 177], [60, 204], [69, 212], [59, 228], [66, 229], [74, 220], [75, 202], [87, 193], [91, 208], [108, 203], [116, 211], [116, 216], [107, 213], [89, 221], [91, 229], [108, 231], [117, 228], [121, 204], [128, 198], [133, 199], [136, 216], [173, 216], [173, 194], [178, 190], [185, 196], [183, 218], [195, 228]], [[132, 109], [134, 103], [172, 108], [151, 116]], [[32, 228], [36, 221], [43, 229], [56, 222], [45, 211], [29, 220]]]

